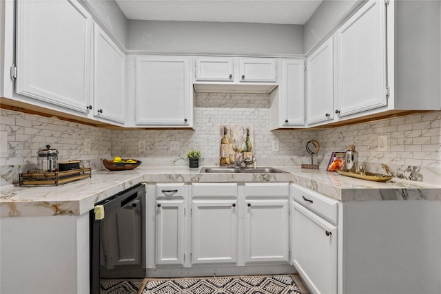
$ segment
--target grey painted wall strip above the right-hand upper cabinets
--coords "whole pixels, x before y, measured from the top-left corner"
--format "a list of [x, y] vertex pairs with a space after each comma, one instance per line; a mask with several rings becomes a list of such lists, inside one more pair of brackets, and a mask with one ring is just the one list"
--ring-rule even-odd
[[325, 0], [304, 26], [304, 52], [307, 53], [329, 32], [336, 28], [347, 14], [365, 0]]

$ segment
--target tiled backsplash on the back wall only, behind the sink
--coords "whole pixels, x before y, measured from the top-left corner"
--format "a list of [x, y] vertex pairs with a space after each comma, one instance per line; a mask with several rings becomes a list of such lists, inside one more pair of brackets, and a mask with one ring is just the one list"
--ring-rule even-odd
[[[259, 165], [296, 165], [305, 158], [305, 145], [317, 132], [269, 131], [268, 94], [197, 93], [194, 107], [195, 130], [114, 130], [112, 154], [146, 158], [143, 165], [188, 165], [188, 149], [201, 149], [203, 165], [219, 161], [220, 125], [248, 125], [254, 130], [254, 156]], [[138, 151], [145, 140], [147, 151]], [[178, 141], [181, 152], [170, 151], [170, 140]], [[279, 150], [272, 151], [272, 143]], [[307, 158], [309, 160], [309, 157]], [[173, 163], [174, 162], [174, 163]]]

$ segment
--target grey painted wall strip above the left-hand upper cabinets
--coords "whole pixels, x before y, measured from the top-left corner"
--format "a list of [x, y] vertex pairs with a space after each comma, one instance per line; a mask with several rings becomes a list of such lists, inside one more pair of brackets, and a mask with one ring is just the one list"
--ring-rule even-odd
[[92, 8], [102, 25], [114, 34], [121, 44], [127, 48], [128, 21], [114, 0], [85, 0]]

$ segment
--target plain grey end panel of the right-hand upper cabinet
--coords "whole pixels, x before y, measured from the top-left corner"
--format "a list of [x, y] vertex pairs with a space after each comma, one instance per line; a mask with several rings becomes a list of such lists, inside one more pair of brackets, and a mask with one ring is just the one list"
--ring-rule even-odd
[[[401, 101], [440, 97], [441, 1], [396, 1], [395, 5], [396, 96]], [[424, 109], [425, 101], [418, 102], [418, 109]]]

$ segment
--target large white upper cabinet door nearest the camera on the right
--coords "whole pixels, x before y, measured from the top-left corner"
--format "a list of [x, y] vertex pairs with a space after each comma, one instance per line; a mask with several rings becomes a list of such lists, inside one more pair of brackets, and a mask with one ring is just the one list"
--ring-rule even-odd
[[384, 1], [369, 0], [336, 32], [339, 116], [387, 105]]

